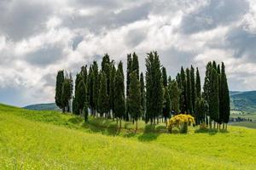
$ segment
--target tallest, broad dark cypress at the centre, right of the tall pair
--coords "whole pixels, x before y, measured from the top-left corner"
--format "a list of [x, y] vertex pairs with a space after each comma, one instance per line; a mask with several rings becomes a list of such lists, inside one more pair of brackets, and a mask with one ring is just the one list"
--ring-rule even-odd
[[155, 123], [163, 107], [160, 59], [157, 52], [150, 52], [146, 59], [146, 122]]

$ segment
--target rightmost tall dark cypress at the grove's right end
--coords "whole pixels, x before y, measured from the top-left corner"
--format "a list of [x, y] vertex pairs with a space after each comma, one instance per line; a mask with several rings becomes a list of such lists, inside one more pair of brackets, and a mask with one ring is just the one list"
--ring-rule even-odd
[[[222, 121], [226, 124], [227, 129], [227, 123], [230, 121], [230, 90], [229, 85], [227, 82], [227, 77], [225, 73], [225, 66], [224, 63], [221, 65], [221, 110], [220, 110], [220, 116]], [[224, 128], [224, 126], [223, 126]]]

